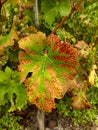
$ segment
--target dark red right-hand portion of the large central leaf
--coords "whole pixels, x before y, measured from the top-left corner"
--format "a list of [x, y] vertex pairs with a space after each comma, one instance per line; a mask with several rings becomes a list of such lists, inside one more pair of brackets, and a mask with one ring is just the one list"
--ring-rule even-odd
[[66, 76], [68, 79], [73, 79], [76, 75], [76, 69], [78, 68], [78, 51], [73, 48], [70, 44], [66, 43], [65, 41], [60, 42], [60, 37], [54, 34], [48, 37], [49, 44], [54, 43], [53, 51], [59, 48], [59, 55], [53, 56], [53, 58], [63, 61], [65, 64], [59, 64], [64, 69], [69, 70], [63, 75]]

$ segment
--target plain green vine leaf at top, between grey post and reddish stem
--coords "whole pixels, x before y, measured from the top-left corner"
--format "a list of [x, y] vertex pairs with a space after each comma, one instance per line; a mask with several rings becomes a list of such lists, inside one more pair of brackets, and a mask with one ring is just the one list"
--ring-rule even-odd
[[43, 19], [48, 25], [52, 25], [58, 14], [67, 16], [71, 10], [70, 0], [62, 0], [58, 2], [54, 0], [43, 0], [41, 2], [41, 12], [43, 13]]

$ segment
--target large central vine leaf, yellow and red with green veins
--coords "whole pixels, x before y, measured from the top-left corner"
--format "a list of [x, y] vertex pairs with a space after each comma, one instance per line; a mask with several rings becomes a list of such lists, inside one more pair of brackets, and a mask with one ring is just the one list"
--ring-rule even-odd
[[60, 38], [38, 32], [19, 41], [19, 72], [29, 100], [39, 109], [51, 112], [55, 98], [61, 99], [68, 90], [67, 80], [73, 79], [78, 66], [78, 52]]

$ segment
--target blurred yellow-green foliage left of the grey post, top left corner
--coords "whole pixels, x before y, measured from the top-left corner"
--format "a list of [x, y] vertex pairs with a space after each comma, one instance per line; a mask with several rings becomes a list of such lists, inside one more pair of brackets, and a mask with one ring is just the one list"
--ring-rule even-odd
[[31, 32], [35, 32], [33, 5], [34, 1], [31, 0], [27, 2], [24, 0], [7, 1], [2, 10], [6, 16], [6, 21], [2, 21], [2, 35], [6, 36], [13, 27], [16, 29], [19, 37], [24, 37]]

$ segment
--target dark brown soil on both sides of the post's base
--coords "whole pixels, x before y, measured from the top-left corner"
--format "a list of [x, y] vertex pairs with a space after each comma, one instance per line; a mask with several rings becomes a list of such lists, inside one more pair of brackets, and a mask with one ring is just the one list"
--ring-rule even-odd
[[[39, 130], [35, 106], [29, 106], [25, 111], [17, 112], [16, 115], [22, 117], [20, 124], [23, 126], [23, 130]], [[60, 116], [54, 110], [51, 113], [45, 113], [45, 130], [98, 130], [98, 126], [94, 126], [92, 123], [74, 126], [71, 118]]]

